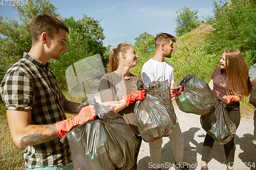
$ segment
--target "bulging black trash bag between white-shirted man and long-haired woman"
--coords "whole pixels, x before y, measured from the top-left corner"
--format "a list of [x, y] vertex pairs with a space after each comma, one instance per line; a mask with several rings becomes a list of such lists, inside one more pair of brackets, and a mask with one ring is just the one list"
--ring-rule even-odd
[[182, 93], [175, 97], [179, 109], [186, 113], [203, 115], [214, 109], [215, 99], [208, 84], [196, 75], [186, 75], [178, 81]]

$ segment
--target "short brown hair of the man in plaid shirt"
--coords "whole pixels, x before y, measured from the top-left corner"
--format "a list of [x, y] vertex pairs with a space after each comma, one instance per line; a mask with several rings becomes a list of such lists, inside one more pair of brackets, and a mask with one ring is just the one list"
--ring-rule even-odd
[[59, 32], [59, 29], [64, 29], [69, 33], [68, 27], [56, 16], [47, 13], [37, 15], [32, 20], [29, 27], [32, 43], [36, 43], [38, 37], [44, 32], [46, 32], [50, 38], [53, 38], [53, 36]]

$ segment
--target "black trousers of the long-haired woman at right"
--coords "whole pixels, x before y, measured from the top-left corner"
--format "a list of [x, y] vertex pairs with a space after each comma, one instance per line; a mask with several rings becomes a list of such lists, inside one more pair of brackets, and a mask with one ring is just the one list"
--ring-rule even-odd
[[[240, 114], [240, 108], [238, 110], [227, 110], [230, 114], [230, 117], [233, 119], [234, 124], [236, 124], [236, 127], [238, 128], [240, 124], [241, 114]], [[202, 152], [202, 161], [207, 160], [210, 151], [214, 145], [214, 139], [206, 133], [206, 136], [204, 138], [204, 144], [203, 144], [203, 152]], [[227, 144], [224, 144], [224, 151], [226, 155], [227, 165], [233, 166], [234, 162], [234, 151], [236, 150], [236, 147], [234, 145], [234, 138], [230, 140]]]

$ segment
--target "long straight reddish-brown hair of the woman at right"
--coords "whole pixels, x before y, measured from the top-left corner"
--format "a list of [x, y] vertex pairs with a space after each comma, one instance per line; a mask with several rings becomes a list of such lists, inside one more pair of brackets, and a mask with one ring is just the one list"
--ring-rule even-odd
[[240, 99], [249, 96], [251, 93], [249, 69], [243, 55], [239, 50], [226, 50], [225, 57], [227, 94], [237, 95]]

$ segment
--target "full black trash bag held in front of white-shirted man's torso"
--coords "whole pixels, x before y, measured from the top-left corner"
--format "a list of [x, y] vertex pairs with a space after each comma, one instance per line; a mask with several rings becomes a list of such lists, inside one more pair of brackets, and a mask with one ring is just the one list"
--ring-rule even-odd
[[151, 142], [164, 136], [172, 135], [176, 125], [176, 115], [168, 81], [153, 81], [145, 88], [143, 82], [138, 80], [138, 90], [145, 89], [144, 101], [137, 101], [134, 108], [135, 121], [141, 137]]

